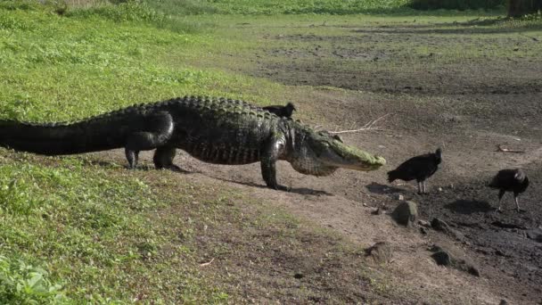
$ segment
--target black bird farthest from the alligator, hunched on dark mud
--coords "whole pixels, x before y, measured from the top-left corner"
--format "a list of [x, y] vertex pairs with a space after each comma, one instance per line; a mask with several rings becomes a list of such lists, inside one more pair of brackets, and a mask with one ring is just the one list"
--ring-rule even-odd
[[506, 192], [513, 192], [513, 200], [518, 211], [520, 211], [520, 203], [518, 203], [518, 195], [525, 192], [529, 186], [529, 177], [521, 169], [502, 169], [488, 185], [489, 187], [498, 188], [498, 211], [501, 210], [501, 199]]

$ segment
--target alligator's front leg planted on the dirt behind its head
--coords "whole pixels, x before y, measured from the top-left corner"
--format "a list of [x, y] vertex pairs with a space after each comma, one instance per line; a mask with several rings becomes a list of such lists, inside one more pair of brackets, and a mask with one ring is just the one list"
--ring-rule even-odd
[[266, 181], [266, 185], [275, 190], [285, 191], [287, 188], [276, 183], [275, 163], [283, 152], [283, 136], [272, 136], [260, 152], [261, 175]]

